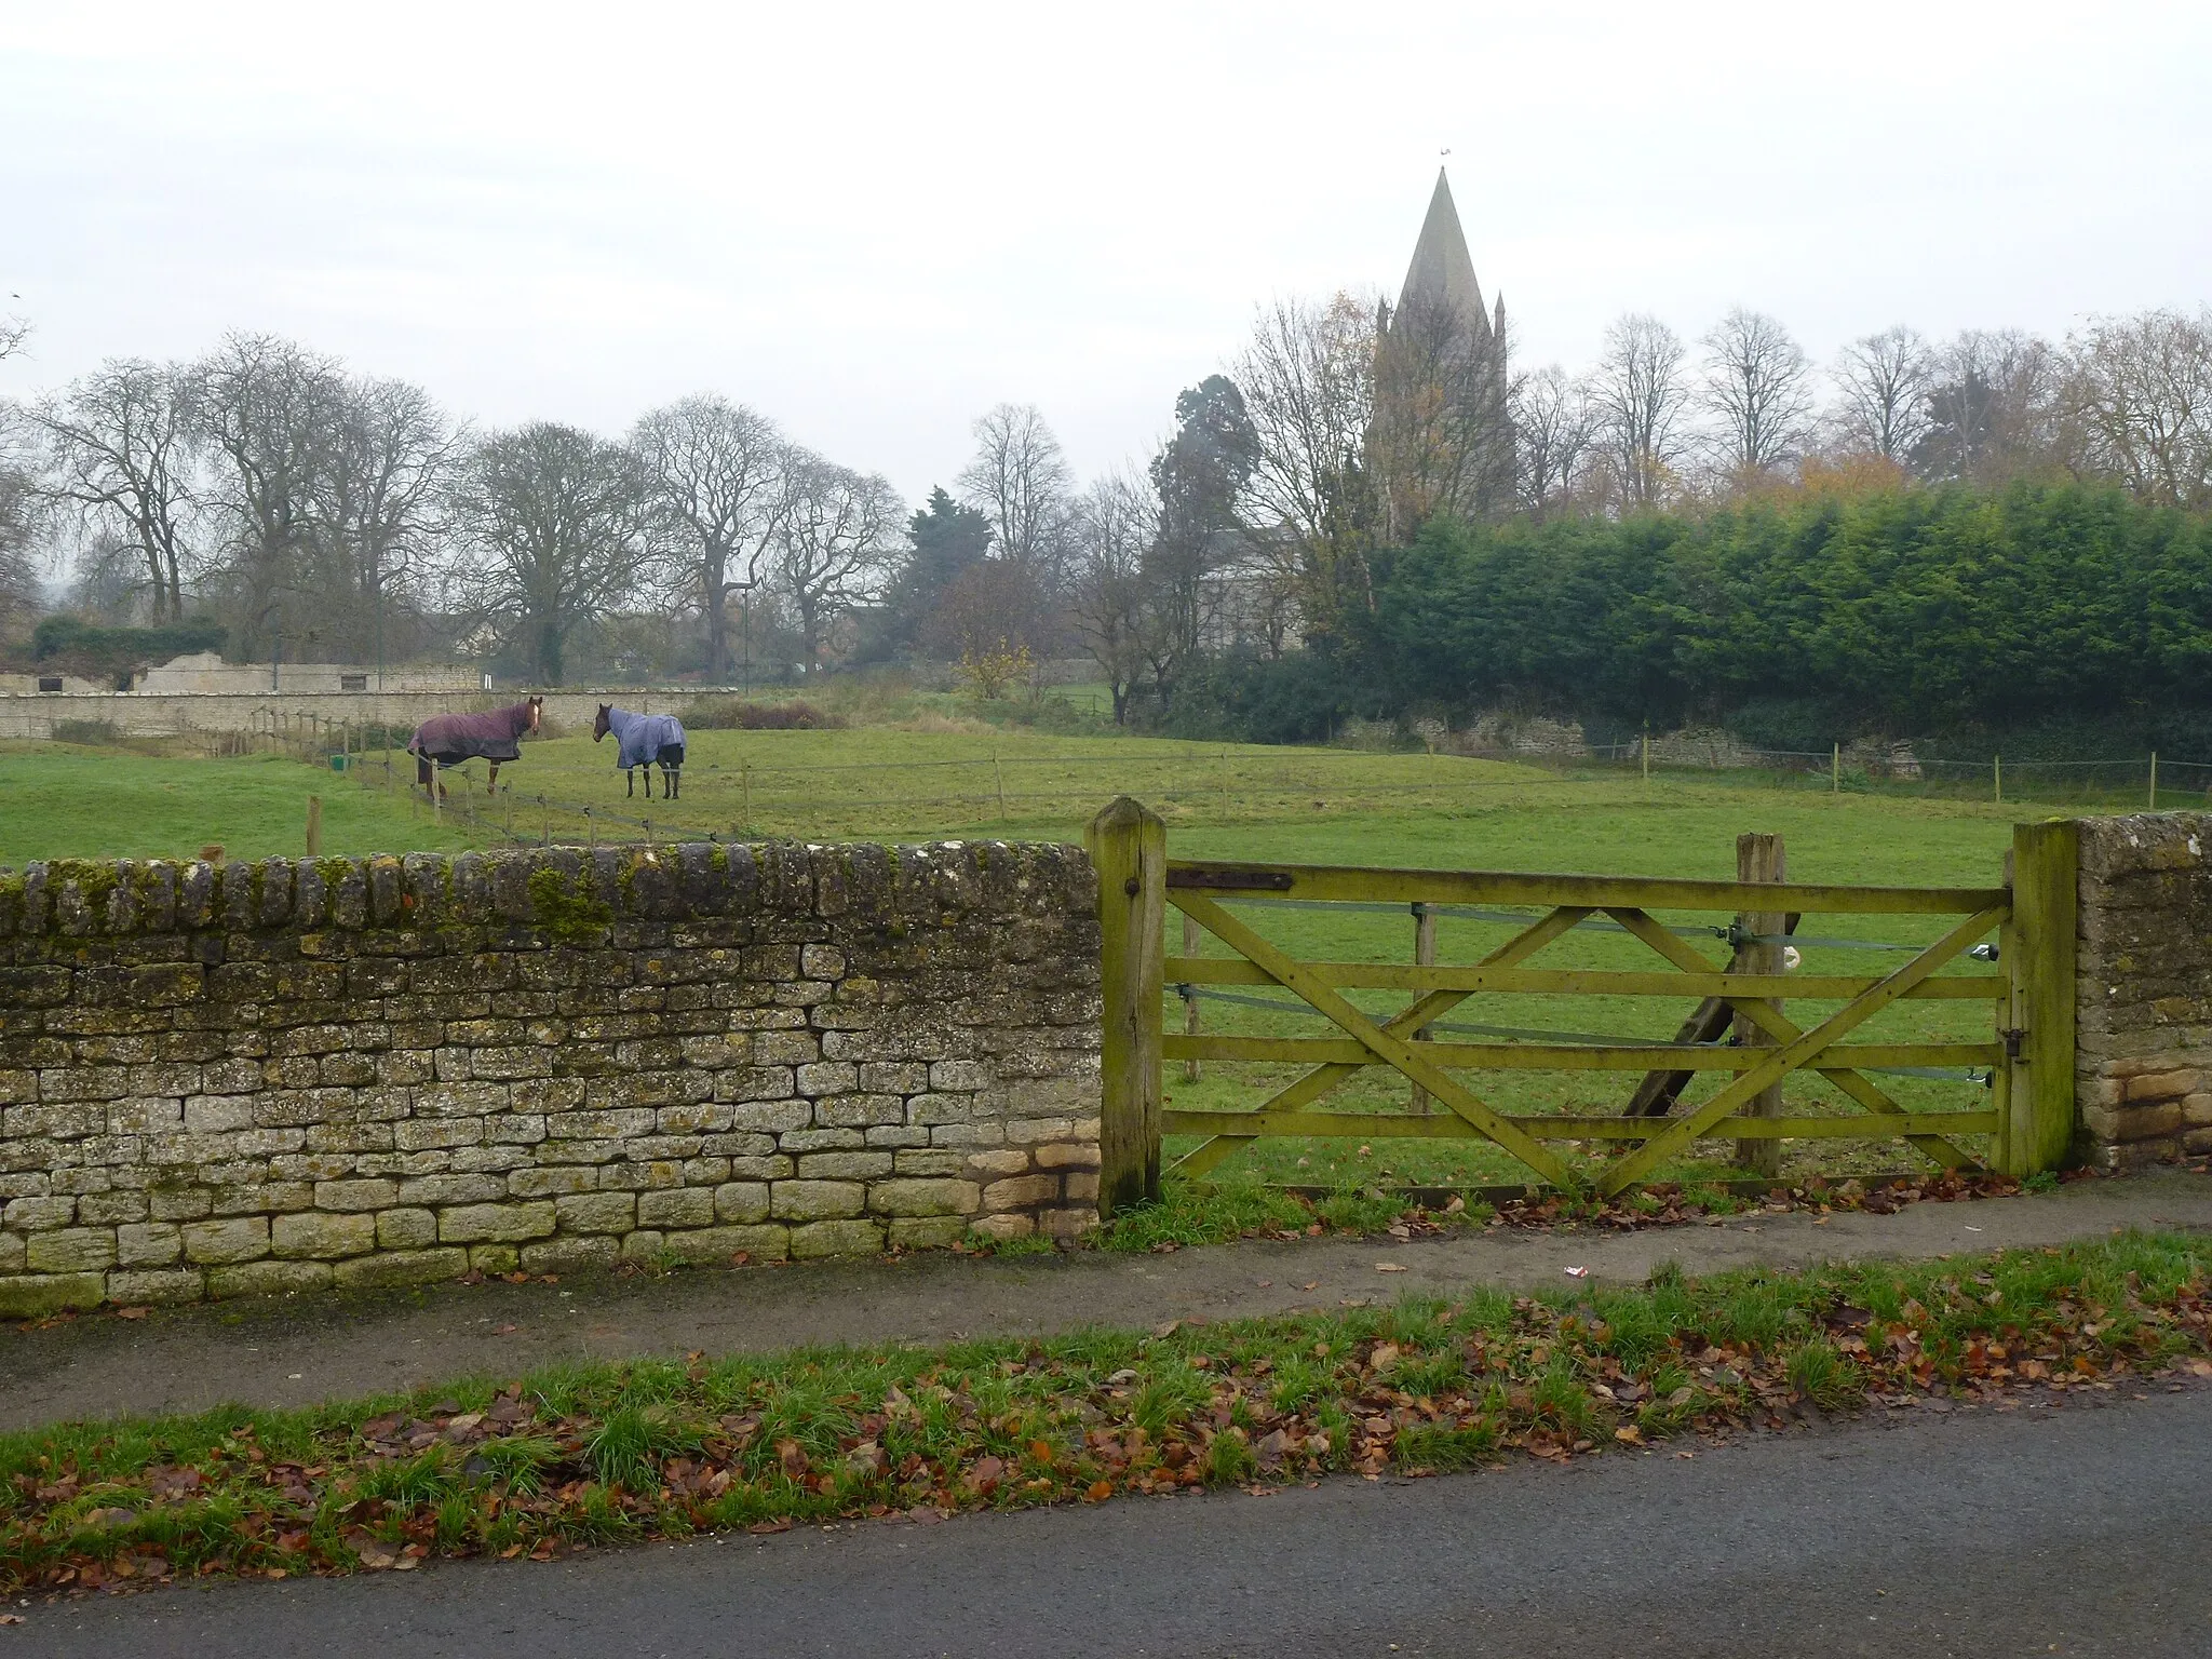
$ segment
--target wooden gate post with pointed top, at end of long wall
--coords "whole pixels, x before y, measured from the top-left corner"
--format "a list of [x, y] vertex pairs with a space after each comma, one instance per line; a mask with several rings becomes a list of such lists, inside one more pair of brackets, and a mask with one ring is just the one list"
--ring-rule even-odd
[[1126, 794], [1084, 832], [1099, 876], [1099, 1217], [1159, 1197], [1168, 825]]

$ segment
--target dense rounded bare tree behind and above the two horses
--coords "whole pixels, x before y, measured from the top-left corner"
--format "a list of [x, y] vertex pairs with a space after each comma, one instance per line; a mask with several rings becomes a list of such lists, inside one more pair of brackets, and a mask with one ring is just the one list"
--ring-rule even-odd
[[626, 445], [538, 420], [476, 445], [453, 487], [460, 588], [562, 681], [568, 635], [637, 588], [655, 555], [655, 482]]

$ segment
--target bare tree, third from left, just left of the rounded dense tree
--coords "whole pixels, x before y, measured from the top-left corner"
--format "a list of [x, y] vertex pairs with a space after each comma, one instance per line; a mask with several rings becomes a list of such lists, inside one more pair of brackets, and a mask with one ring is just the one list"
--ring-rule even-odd
[[467, 436], [407, 380], [338, 387], [334, 418], [314, 487], [321, 540], [341, 562], [323, 615], [336, 644], [374, 650], [383, 664], [387, 611], [445, 538]]

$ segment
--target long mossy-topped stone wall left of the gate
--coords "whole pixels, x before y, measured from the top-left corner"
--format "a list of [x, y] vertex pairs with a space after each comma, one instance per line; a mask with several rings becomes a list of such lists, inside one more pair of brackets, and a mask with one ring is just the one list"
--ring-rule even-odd
[[0, 1314], [1073, 1232], [1073, 847], [0, 872]]

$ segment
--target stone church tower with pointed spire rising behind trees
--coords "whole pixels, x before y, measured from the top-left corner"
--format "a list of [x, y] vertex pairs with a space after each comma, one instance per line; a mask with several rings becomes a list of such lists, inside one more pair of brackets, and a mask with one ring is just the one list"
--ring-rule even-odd
[[1402, 542], [1442, 511], [1491, 518], [1513, 504], [1509, 385], [1504, 294], [1493, 316], [1438, 168], [1376, 352], [1369, 451], [1389, 540]]

